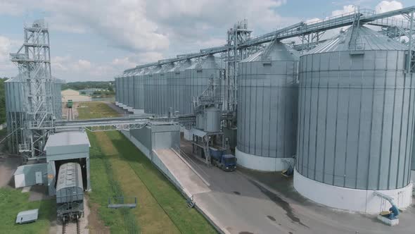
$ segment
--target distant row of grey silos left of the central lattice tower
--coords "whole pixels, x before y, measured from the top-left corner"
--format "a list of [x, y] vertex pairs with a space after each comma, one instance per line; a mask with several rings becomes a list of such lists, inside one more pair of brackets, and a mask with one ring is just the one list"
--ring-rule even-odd
[[129, 70], [115, 78], [117, 106], [132, 113], [193, 113], [193, 97], [219, 78], [222, 62], [215, 56]]

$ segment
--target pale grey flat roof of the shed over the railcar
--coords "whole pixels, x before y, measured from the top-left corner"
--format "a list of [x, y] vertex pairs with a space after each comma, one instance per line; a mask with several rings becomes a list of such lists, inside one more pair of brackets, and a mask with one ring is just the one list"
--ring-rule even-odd
[[68, 131], [50, 135], [48, 141], [46, 142], [45, 148], [79, 144], [88, 144], [91, 146], [91, 144], [89, 144], [87, 133]]

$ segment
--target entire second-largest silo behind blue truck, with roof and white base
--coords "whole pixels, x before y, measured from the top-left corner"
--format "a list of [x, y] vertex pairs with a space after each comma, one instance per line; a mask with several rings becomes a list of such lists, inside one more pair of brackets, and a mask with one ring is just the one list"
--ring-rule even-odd
[[282, 171], [293, 161], [297, 131], [298, 60], [281, 42], [238, 65], [238, 164]]

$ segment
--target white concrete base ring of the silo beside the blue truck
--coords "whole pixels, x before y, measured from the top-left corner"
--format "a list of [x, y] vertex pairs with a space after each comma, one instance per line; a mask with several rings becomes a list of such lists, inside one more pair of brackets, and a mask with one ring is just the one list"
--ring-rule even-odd
[[293, 161], [289, 158], [271, 158], [246, 154], [239, 151], [238, 147], [235, 148], [235, 156], [238, 159], [236, 161], [238, 165], [257, 171], [283, 171], [288, 168], [286, 161]]

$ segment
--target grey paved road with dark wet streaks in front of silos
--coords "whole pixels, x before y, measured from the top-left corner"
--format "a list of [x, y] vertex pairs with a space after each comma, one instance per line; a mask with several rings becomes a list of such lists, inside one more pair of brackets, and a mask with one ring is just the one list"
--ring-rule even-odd
[[[181, 140], [181, 149], [191, 155], [191, 144]], [[196, 203], [208, 210], [229, 233], [414, 233], [415, 208], [400, 216], [400, 225], [383, 225], [376, 216], [352, 214], [322, 207], [295, 192], [292, 179], [279, 173], [238, 169], [224, 172], [208, 168], [211, 192], [199, 193]]]

